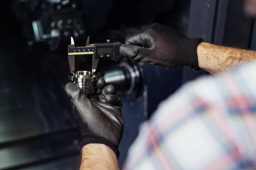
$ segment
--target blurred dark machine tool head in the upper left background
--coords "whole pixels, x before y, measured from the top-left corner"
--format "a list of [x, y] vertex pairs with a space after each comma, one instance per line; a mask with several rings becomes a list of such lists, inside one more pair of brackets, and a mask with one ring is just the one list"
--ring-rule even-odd
[[55, 50], [70, 36], [84, 39], [79, 0], [12, 0], [12, 11], [22, 23], [28, 45], [40, 43]]

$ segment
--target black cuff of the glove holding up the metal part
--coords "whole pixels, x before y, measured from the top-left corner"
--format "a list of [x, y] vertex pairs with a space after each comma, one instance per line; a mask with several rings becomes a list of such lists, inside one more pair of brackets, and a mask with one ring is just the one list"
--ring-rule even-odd
[[81, 149], [86, 145], [86, 144], [105, 144], [108, 147], [110, 147], [114, 153], [116, 153], [117, 159], [119, 159], [119, 150], [118, 147], [116, 147], [112, 142], [108, 141], [107, 139], [102, 139], [99, 136], [86, 136], [86, 137], [81, 137], [81, 143], [80, 147]]

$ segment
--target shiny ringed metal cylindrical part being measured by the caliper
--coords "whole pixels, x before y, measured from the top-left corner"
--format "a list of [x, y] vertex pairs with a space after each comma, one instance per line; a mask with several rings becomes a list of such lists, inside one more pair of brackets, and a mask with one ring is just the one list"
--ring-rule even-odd
[[96, 91], [96, 81], [98, 77], [91, 74], [90, 71], [76, 71], [75, 74], [70, 73], [69, 79], [76, 83], [84, 94], [93, 94]]

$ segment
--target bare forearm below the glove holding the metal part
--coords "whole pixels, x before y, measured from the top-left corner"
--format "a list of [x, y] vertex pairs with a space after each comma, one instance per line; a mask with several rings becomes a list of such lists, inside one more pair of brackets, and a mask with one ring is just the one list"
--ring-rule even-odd
[[120, 170], [116, 154], [105, 144], [87, 144], [82, 149], [80, 170]]

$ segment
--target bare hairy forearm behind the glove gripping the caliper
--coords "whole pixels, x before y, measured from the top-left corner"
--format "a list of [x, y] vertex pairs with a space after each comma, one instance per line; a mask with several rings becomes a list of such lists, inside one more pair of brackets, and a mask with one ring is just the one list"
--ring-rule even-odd
[[216, 74], [243, 62], [256, 60], [256, 51], [230, 48], [202, 42], [198, 45], [199, 67], [209, 73]]

